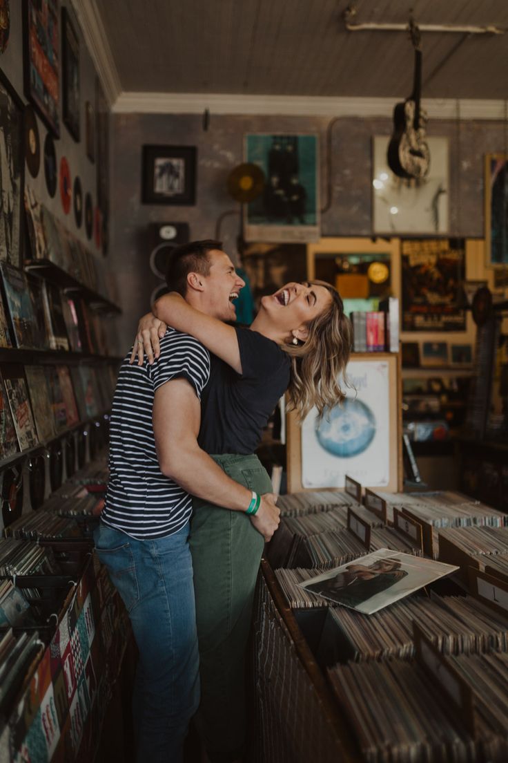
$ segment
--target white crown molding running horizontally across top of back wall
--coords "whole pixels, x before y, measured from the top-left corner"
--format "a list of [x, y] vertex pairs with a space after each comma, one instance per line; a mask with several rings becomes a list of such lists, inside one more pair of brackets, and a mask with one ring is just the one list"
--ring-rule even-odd
[[[318, 98], [305, 95], [121, 92], [117, 114], [276, 114], [287, 117], [389, 117], [404, 98]], [[432, 119], [504, 119], [504, 101], [423, 98]]]

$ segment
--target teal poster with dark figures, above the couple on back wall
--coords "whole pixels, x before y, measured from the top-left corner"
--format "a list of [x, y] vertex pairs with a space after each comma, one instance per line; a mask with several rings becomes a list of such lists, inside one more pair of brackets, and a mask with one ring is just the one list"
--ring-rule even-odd
[[248, 134], [244, 158], [264, 172], [264, 192], [244, 206], [247, 241], [320, 237], [318, 136]]

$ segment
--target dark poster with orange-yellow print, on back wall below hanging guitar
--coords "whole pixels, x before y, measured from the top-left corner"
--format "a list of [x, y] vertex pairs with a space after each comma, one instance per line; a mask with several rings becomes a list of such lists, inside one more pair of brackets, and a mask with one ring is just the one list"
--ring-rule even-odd
[[464, 239], [403, 239], [402, 330], [465, 331]]

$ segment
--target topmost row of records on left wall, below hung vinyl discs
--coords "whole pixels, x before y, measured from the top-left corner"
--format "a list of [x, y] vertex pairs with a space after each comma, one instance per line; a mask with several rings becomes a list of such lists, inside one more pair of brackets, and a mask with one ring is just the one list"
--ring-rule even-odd
[[47, 281], [91, 304], [96, 311], [120, 313], [120, 307], [115, 304], [116, 284], [103, 262], [37, 201], [28, 186], [24, 202], [30, 244], [24, 269], [40, 273]]

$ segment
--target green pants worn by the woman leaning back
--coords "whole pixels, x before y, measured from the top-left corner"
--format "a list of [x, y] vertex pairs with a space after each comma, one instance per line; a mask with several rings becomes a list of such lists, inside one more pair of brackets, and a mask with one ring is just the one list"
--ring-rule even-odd
[[[212, 456], [232, 479], [257, 493], [272, 490], [257, 456]], [[209, 758], [241, 754], [247, 723], [245, 652], [264, 538], [248, 515], [197, 499], [190, 524], [201, 703], [196, 715]]]

